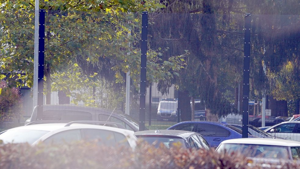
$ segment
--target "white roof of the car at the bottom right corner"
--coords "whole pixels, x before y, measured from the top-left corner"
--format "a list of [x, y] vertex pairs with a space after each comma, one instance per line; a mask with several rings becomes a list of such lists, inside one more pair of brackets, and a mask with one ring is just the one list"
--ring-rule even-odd
[[276, 138], [237, 138], [222, 141], [221, 144], [257, 144], [257, 145], [275, 145], [285, 147], [300, 146], [300, 142], [276, 139]]

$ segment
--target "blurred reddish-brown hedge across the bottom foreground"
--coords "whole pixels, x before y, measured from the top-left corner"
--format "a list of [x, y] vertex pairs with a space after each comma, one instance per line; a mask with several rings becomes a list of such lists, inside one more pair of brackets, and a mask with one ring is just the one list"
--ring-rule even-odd
[[6, 144], [0, 145], [1, 169], [296, 169], [299, 163], [276, 165], [253, 163], [240, 154], [218, 154], [214, 151], [154, 149], [140, 144], [135, 151], [125, 147], [101, 147], [95, 143], [66, 145]]

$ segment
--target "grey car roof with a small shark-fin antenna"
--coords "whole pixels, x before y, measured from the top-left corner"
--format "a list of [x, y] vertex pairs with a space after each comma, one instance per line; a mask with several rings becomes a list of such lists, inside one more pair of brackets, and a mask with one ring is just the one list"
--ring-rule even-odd
[[[158, 131], [158, 132], [157, 132]], [[182, 138], [187, 138], [192, 134], [198, 134], [192, 131], [184, 131], [184, 130], [145, 130], [145, 131], [137, 131], [134, 133], [136, 136], [141, 135], [167, 135], [167, 136], [178, 136]]]

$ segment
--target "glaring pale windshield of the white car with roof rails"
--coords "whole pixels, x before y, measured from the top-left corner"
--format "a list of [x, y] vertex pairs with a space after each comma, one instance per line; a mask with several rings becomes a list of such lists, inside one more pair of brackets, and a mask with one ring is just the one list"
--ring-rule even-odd
[[29, 143], [33, 144], [43, 135], [49, 133], [44, 130], [7, 130], [0, 134], [0, 140], [7, 143]]

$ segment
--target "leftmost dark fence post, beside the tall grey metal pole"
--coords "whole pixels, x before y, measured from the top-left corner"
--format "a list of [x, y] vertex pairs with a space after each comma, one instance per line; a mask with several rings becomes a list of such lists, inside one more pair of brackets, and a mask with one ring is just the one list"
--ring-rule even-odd
[[38, 31], [38, 108], [37, 120], [43, 118], [44, 101], [44, 50], [45, 50], [45, 9], [39, 10]]

